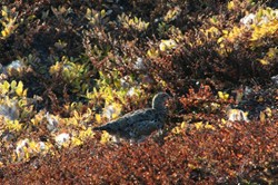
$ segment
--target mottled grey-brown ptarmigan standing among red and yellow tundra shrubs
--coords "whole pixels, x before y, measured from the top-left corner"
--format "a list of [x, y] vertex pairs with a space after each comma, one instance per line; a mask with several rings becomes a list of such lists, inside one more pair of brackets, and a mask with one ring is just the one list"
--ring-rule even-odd
[[142, 140], [152, 132], [161, 129], [167, 118], [166, 100], [170, 96], [158, 93], [152, 98], [152, 107], [139, 109], [112, 120], [103, 126], [95, 127], [95, 130], [106, 130], [109, 134], [131, 140]]

